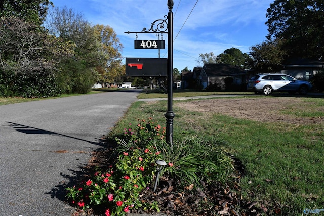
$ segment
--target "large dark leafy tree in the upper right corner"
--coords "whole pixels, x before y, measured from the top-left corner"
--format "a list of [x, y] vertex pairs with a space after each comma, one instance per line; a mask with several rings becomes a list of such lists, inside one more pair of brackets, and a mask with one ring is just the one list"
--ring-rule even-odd
[[266, 14], [269, 40], [284, 41], [290, 57], [322, 60], [324, 55], [324, 1], [275, 0]]

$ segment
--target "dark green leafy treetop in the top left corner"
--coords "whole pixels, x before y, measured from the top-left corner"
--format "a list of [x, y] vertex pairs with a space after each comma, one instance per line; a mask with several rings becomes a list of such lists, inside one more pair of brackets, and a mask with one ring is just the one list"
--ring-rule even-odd
[[49, 0], [2, 0], [0, 17], [15, 16], [40, 26], [50, 5], [53, 3]]

